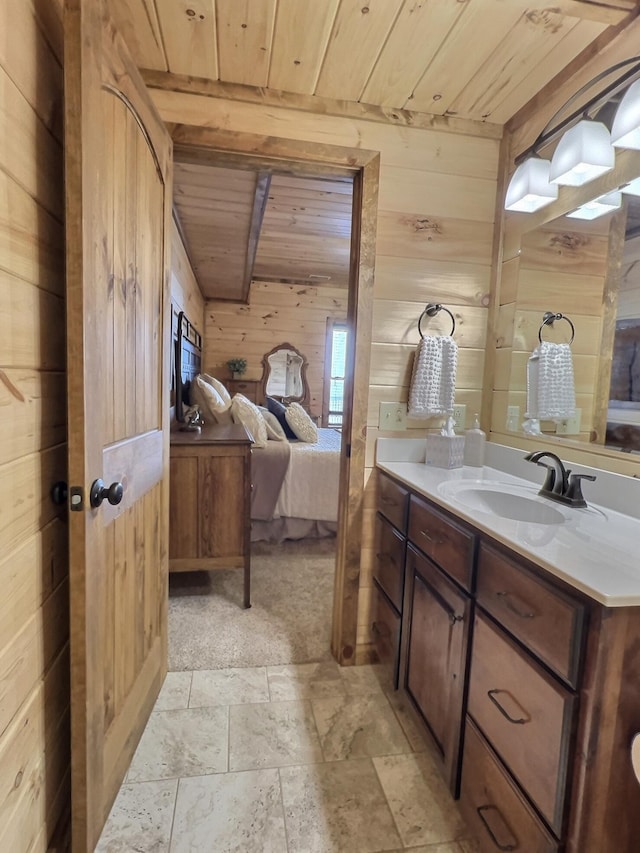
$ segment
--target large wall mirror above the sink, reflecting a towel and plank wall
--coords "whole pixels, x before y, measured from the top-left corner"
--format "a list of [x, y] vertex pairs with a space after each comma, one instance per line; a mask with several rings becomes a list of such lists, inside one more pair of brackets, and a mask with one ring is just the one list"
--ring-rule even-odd
[[[579, 204], [640, 175], [640, 152], [619, 155], [593, 186], [567, 188], [533, 215], [508, 214], [492, 430], [522, 434], [527, 363], [543, 340], [568, 342], [571, 325], [542, 325], [545, 312], [571, 320], [578, 417], [542, 421], [546, 439], [640, 453], [640, 198], [585, 221]], [[542, 327], [542, 331], [541, 330]]]

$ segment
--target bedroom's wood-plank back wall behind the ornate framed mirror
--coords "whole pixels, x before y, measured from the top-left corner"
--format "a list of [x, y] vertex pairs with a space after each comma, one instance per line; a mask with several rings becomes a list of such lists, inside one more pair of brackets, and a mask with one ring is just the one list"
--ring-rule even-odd
[[347, 316], [347, 290], [329, 285], [253, 281], [249, 303], [209, 300], [205, 306], [204, 365], [224, 382], [226, 362], [247, 359], [246, 379], [262, 378], [262, 356], [281, 343], [306, 356], [312, 415], [322, 414], [327, 318]]

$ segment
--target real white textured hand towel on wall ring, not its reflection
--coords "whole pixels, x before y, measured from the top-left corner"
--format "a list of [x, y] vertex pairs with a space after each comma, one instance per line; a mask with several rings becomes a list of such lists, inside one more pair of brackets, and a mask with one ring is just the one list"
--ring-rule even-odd
[[450, 335], [423, 338], [413, 358], [409, 416], [429, 418], [453, 411], [458, 345]]

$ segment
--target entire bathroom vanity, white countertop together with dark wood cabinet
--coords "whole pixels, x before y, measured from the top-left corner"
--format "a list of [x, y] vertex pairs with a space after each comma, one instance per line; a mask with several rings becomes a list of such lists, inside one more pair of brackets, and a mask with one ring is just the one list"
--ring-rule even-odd
[[640, 521], [378, 467], [372, 636], [481, 850], [640, 849]]

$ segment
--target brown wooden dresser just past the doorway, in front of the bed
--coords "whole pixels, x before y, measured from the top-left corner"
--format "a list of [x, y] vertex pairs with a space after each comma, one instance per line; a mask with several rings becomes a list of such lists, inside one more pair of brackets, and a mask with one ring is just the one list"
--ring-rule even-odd
[[244, 427], [171, 433], [169, 571], [244, 569], [250, 607], [251, 440]]

